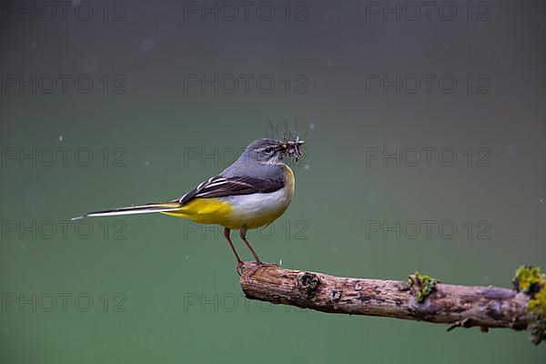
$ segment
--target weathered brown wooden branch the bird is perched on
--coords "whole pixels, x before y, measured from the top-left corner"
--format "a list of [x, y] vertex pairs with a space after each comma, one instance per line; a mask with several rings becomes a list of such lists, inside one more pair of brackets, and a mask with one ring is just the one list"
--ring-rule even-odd
[[[329, 313], [450, 324], [450, 329], [480, 327], [482, 331], [531, 329], [537, 320], [536, 315], [526, 309], [529, 296], [509, 288], [439, 283], [428, 287], [430, 293], [423, 295], [427, 287], [420, 277], [425, 276], [410, 276], [410, 284], [397, 280], [341, 278], [249, 262], [243, 268], [239, 283], [247, 298], [275, 304]], [[533, 342], [538, 344], [544, 339], [543, 332], [541, 335], [532, 339]]]

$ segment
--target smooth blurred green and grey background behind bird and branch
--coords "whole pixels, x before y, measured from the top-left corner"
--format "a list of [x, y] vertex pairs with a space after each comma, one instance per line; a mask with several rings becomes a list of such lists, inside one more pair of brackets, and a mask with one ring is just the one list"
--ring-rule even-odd
[[[238, 3], [226, 2], [204, 3], [204, 20], [201, 2], [75, 2], [66, 20], [56, 3], [23, 3], [23, 13], [9, 4], [0, 12], [0, 362], [544, 358], [543, 346], [507, 329], [447, 333], [248, 301], [214, 227], [165, 216], [66, 221], [179, 197], [269, 136], [270, 124], [279, 136], [288, 126], [308, 142], [306, 156], [287, 213], [250, 233], [261, 258], [510, 287], [519, 265], [546, 268], [542, 2], [440, 2], [428, 19], [405, 2], [273, 1], [254, 3], [248, 20], [241, 5], [230, 20]], [[188, 84], [194, 75], [225, 83], [201, 91]], [[240, 75], [254, 77], [248, 92]], [[430, 92], [424, 75], [435, 77]], [[453, 92], [438, 86], [442, 76], [456, 80]], [[437, 148], [430, 163], [428, 147]], [[457, 157], [452, 166], [442, 148]], [[397, 150], [399, 166], [383, 159]], [[423, 220], [434, 221], [430, 235]]]

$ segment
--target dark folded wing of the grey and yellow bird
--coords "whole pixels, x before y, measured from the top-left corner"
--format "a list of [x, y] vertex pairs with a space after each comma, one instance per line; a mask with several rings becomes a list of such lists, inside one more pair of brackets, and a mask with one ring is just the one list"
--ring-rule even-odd
[[275, 192], [285, 186], [283, 177], [259, 178], [259, 177], [223, 177], [215, 176], [199, 184], [183, 197], [177, 199], [181, 204], [187, 203], [192, 198], [227, 197], [236, 195], [248, 195], [252, 193]]

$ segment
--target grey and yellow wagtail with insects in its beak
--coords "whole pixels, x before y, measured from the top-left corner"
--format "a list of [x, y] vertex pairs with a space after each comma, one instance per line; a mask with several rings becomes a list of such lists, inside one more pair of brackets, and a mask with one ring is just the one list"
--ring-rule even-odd
[[271, 224], [288, 208], [294, 196], [295, 180], [284, 157], [301, 156], [299, 147], [303, 143], [299, 138], [295, 141], [258, 139], [231, 166], [180, 198], [169, 202], [90, 212], [73, 219], [159, 212], [190, 218], [201, 224], [218, 224], [224, 227], [224, 237], [237, 258], [238, 272], [243, 261], [231, 242], [231, 229], [239, 230], [239, 235], [256, 259], [256, 264], [262, 265], [264, 263], [248, 243], [247, 231]]

